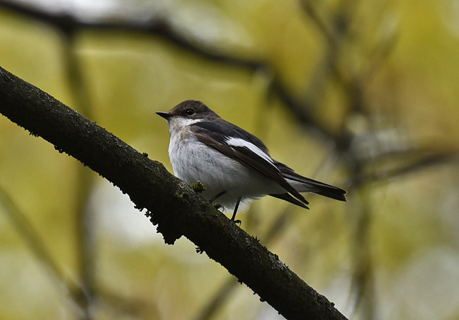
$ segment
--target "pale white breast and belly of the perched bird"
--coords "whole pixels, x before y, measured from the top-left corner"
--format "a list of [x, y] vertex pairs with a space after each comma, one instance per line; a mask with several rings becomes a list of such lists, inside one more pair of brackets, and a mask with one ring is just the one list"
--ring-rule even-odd
[[171, 137], [169, 157], [176, 177], [189, 184], [199, 180], [205, 185], [206, 190], [201, 193], [204, 198], [209, 200], [226, 191], [215, 202], [228, 211], [239, 198], [243, 198], [244, 204], [244, 200], [286, 192], [272, 180], [226, 157], [193, 135], [182, 135], [180, 139]]

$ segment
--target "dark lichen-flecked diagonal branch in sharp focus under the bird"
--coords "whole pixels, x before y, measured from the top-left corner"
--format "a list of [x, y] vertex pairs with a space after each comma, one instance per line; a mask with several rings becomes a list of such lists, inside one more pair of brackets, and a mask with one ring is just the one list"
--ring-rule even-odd
[[345, 319], [333, 303], [160, 162], [1, 67], [0, 113], [118, 186], [136, 208], [147, 209], [166, 243], [184, 235], [286, 318]]

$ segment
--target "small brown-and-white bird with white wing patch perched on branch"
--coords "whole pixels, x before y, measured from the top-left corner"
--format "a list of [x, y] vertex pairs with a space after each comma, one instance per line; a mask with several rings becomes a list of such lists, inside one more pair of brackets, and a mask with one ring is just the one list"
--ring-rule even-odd
[[[256, 136], [223, 120], [200, 101], [187, 100], [169, 112], [157, 112], [169, 125], [169, 158], [176, 177], [201, 181], [201, 195], [225, 211], [247, 206], [251, 199], [271, 195], [309, 209], [299, 192], [346, 201], [346, 191], [296, 174], [271, 158]], [[230, 211], [231, 212], [231, 211]]]

